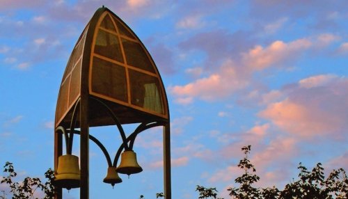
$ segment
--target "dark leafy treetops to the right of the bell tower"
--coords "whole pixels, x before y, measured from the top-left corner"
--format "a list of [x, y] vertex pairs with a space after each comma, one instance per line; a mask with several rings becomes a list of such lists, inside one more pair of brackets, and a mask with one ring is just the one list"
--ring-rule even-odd
[[[239, 187], [230, 187], [227, 190], [232, 198], [237, 199], [343, 199], [348, 198], [348, 178], [343, 168], [333, 170], [327, 178], [324, 176], [324, 168], [318, 163], [315, 168], [308, 170], [301, 163], [299, 164], [299, 180], [293, 180], [286, 184], [283, 191], [276, 186], [267, 188], [255, 188], [253, 184], [260, 180], [255, 174], [256, 169], [248, 159], [251, 145], [244, 146], [242, 151], [244, 159], [239, 161], [238, 167], [244, 170], [242, 176], [237, 177], [235, 182]], [[197, 186], [196, 191], [200, 192], [199, 198], [216, 198], [218, 192], [215, 188], [207, 189], [204, 186]], [[210, 191], [210, 192], [209, 192]], [[214, 195], [212, 195], [214, 193]]]

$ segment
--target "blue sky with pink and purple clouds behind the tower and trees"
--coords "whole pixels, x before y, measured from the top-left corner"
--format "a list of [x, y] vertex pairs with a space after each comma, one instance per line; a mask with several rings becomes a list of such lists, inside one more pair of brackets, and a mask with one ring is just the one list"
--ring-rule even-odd
[[[283, 189], [299, 162], [348, 169], [347, 1], [1, 0], [0, 164], [13, 162], [19, 179], [53, 167], [63, 72], [102, 5], [139, 36], [166, 86], [173, 198], [197, 198], [197, 184], [228, 198], [244, 145], [261, 177], [255, 186]], [[90, 134], [116, 153], [116, 127]], [[90, 143], [90, 198], [155, 198], [161, 141], [161, 128], [143, 132], [134, 146], [143, 172], [113, 189]], [[79, 198], [79, 189], [64, 198]]]

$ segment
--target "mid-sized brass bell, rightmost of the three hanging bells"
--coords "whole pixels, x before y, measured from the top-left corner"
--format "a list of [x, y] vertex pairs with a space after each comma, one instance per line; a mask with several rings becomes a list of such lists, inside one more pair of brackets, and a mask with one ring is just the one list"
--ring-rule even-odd
[[136, 161], [136, 153], [132, 150], [125, 150], [122, 152], [121, 162], [118, 168], [116, 168], [116, 172], [131, 175], [140, 173], [141, 171], [143, 171], [143, 168], [141, 168]]

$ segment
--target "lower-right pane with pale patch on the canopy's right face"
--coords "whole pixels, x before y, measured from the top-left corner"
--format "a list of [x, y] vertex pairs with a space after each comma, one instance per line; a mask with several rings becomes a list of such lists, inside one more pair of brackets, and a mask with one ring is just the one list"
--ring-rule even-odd
[[157, 77], [152, 77], [135, 70], [129, 70], [129, 80], [132, 104], [164, 114]]

